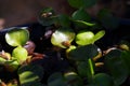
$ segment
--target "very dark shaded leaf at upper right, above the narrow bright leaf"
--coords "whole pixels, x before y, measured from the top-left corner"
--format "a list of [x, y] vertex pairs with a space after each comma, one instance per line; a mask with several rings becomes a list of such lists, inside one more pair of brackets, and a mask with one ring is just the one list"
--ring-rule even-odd
[[98, 17], [106, 29], [116, 29], [119, 26], [118, 18], [106, 9], [101, 10]]

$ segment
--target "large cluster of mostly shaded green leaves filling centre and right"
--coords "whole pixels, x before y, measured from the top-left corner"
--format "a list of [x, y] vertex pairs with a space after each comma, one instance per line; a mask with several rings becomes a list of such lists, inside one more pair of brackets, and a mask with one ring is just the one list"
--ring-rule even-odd
[[[39, 17], [41, 25], [54, 25], [56, 30], [52, 33], [51, 43], [54, 46], [66, 48], [66, 58], [73, 62], [72, 69], [74, 69], [67, 73], [52, 74], [48, 80], [48, 85], [122, 85], [130, 75], [129, 46], [125, 45], [125, 48], [121, 47], [123, 49], [115, 47], [103, 54], [102, 48], [95, 45], [95, 42], [105, 34], [102, 27], [105, 29], [117, 28], [118, 18], [113, 16], [108, 10], [103, 9], [99, 12], [98, 19], [93, 20], [86, 9], [94, 5], [96, 0], [68, 0], [68, 3], [78, 9], [72, 16], [55, 15], [52, 9], [46, 9]], [[99, 62], [99, 58], [103, 61]], [[104, 71], [96, 71], [99, 66], [103, 66]]]

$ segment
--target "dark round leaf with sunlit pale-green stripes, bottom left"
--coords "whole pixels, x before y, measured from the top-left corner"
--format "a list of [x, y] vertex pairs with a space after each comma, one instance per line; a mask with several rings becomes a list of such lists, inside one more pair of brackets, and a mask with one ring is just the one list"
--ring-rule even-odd
[[20, 68], [18, 76], [22, 86], [42, 86], [40, 81], [43, 76], [43, 69], [36, 64], [24, 66]]

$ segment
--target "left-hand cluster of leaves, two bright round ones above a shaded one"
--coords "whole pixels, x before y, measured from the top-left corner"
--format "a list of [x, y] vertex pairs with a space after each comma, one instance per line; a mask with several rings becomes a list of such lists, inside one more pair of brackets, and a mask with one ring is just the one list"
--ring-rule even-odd
[[10, 72], [17, 72], [20, 84], [10, 82], [0, 86], [43, 86], [40, 80], [43, 76], [43, 69], [37, 64], [27, 63], [28, 52], [24, 47], [29, 40], [29, 31], [24, 27], [13, 27], [5, 33], [5, 41], [9, 45], [14, 46], [12, 54], [2, 52], [0, 64], [4, 66]]

